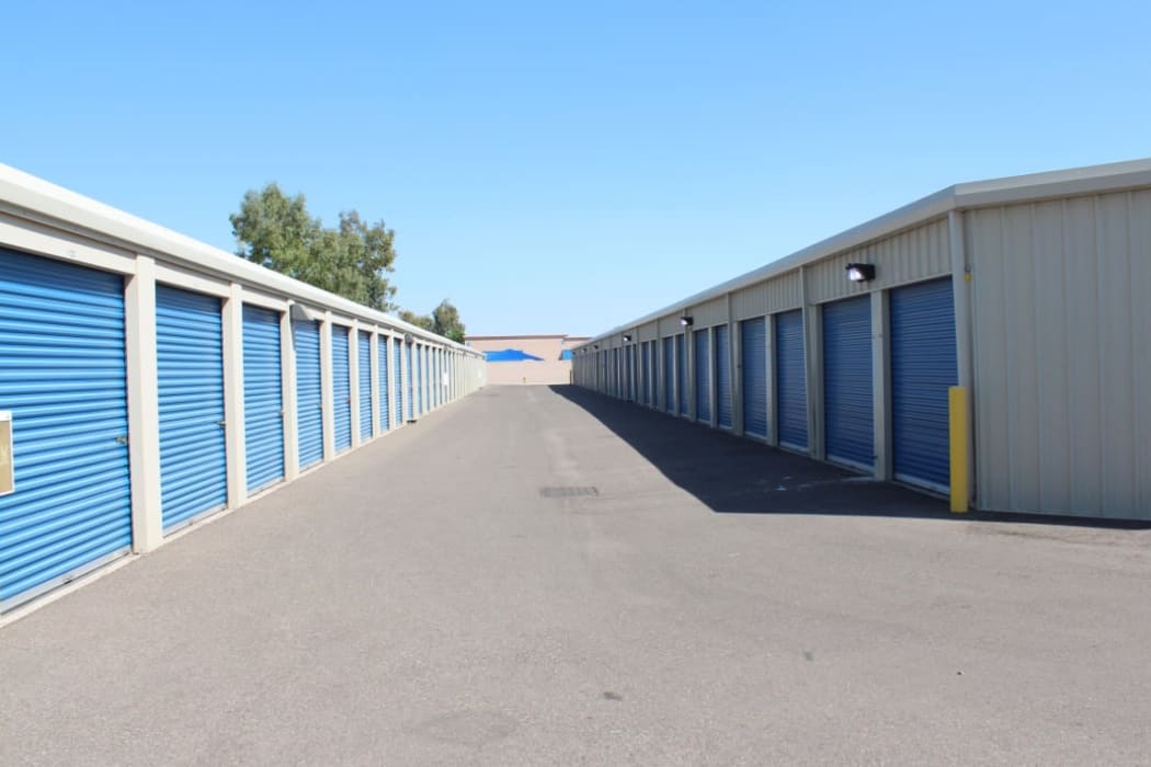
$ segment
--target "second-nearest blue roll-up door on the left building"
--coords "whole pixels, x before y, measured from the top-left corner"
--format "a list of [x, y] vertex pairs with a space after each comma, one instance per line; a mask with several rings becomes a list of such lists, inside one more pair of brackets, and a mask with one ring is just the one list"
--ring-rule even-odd
[[220, 299], [157, 286], [160, 500], [166, 531], [228, 501], [221, 331]]

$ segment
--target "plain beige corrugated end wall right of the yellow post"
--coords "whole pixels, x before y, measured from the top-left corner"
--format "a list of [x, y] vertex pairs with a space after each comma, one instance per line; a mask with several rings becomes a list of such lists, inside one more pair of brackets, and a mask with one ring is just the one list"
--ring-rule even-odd
[[1151, 192], [965, 218], [978, 505], [1151, 519]]

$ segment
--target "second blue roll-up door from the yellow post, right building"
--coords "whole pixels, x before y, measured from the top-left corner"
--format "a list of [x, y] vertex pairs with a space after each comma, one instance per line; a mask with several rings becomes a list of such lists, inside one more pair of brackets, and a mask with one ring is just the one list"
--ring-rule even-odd
[[823, 306], [823, 408], [828, 460], [875, 466], [871, 297]]

